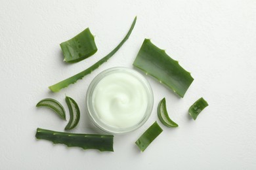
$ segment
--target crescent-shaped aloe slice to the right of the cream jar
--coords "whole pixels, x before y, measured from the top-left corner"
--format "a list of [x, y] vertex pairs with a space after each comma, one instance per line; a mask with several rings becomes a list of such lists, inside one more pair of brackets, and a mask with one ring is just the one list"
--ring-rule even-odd
[[164, 126], [178, 127], [178, 124], [173, 122], [173, 120], [171, 120], [171, 118], [168, 116], [165, 98], [161, 99], [160, 103], [158, 104], [158, 118]]

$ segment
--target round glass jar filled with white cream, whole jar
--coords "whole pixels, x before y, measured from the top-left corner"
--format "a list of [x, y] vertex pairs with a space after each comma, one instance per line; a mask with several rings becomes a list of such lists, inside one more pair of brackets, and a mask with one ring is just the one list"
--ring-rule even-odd
[[121, 134], [148, 120], [153, 107], [150, 84], [139, 72], [113, 67], [98, 74], [87, 90], [89, 117], [100, 129]]

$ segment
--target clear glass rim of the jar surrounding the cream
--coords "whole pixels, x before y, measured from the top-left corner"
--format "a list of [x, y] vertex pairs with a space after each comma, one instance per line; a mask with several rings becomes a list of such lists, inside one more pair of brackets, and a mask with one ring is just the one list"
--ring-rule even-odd
[[[146, 90], [146, 94], [148, 97], [148, 103], [147, 103], [148, 105], [146, 107], [146, 112], [144, 113], [144, 117], [140, 120], [138, 124], [135, 124], [135, 126], [124, 127], [124, 128], [108, 126], [107, 124], [104, 124], [102, 121], [100, 121], [100, 118], [98, 118], [95, 112], [95, 109], [93, 107], [93, 91], [95, 90], [95, 87], [98, 84], [98, 82], [100, 82], [100, 80], [102, 80], [102, 78], [104, 78], [106, 75], [111, 75], [112, 73], [117, 73], [117, 72], [128, 73], [129, 75], [134, 76], [135, 78], [137, 78], [137, 80], [141, 82], [142, 86], [144, 86]], [[95, 126], [102, 129], [103, 131], [106, 131], [107, 133], [123, 134], [123, 133], [128, 133], [130, 131], [135, 131], [136, 129], [141, 127], [146, 122], [146, 120], [148, 120], [153, 109], [154, 95], [148, 80], [146, 80], [146, 78], [142, 74], [140, 74], [138, 71], [135, 71], [134, 69], [130, 69], [127, 67], [112, 67], [110, 69], [106, 69], [102, 71], [101, 73], [96, 75], [95, 78], [93, 78], [87, 90], [86, 104], [87, 104], [87, 113], [89, 114], [89, 117], [92, 120], [93, 124], [95, 124]]]

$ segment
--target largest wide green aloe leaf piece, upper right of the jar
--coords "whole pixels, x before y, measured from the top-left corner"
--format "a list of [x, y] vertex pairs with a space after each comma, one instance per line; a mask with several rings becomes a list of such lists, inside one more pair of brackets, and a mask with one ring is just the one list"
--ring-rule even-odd
[[150, 39], [144, 40], [133, 65], [144, 71], [146, 75], [158, 79], [181, 97], [184, 97], [186, 90], [194, 80], [178, 61], [170, 58], [164, 50], [152, 44]]

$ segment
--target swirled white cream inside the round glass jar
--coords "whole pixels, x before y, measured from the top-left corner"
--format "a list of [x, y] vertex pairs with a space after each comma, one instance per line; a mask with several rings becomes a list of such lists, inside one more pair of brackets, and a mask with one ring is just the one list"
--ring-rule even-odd
[[99, 120], [111, 127], [139, 124], [146, 114], [148, 95], [142, 82], [131, 73], [116, 72], [96, 84], [92, 104]]

